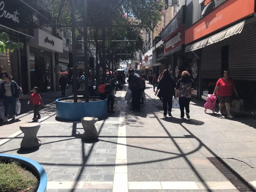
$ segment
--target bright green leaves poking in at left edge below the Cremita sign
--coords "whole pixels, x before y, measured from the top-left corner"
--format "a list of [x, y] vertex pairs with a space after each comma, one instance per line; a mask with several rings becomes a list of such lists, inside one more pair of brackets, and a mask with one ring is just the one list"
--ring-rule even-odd
[[0, 33], [0, 52], [5, 53], [7, 49], [12, 53], [15, 49], [23, 48], [23, 43], [16, 43], [10, 40], [5, 32]]

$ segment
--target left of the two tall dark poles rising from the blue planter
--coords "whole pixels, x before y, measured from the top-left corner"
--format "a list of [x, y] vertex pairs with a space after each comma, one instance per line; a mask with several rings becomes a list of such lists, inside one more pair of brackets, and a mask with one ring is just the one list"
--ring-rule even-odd
[[76, 71], [76, 28], [75, 28], [75, 0], [71, 1], [71, 19], [72, 19], [72, 63], [73, 63], [73, 92], [74, 103], [77, 102], [77, 71]]

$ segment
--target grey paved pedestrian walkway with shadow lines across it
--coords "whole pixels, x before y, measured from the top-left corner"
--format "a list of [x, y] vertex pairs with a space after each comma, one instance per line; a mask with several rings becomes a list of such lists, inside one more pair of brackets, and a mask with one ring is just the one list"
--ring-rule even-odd
[[116, 113], [96, 123], [96, 141], [81, 140], [80, 122], [56, 121], [50, 103], [41, 110], [39, 149], [20, 150], [19, 125], [31, 121], [30, 111], [0, 124], [0, 152], [38, 161], [47, 172], [48, 192], [237, 192], [208, 157], [221, 157], [256, 186], [256, 120], [205, 114], [196, 99], [190, 120], [181, 120], [178, 109], [164, 118], [160, 100], [146, 86], [140, 113], [128, 110], [127, 88], [117, 92]]

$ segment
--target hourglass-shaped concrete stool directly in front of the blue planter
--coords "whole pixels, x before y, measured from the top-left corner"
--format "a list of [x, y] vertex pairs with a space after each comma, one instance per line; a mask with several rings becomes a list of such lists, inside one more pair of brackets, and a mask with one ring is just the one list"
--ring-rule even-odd
[[83, 139], [97, 139], [98, 132], [94, 125], [98, 121], [97, 117], [83, 117], [81, 118], [81, 123], [84, 128], [84, 133], [82, 135]]

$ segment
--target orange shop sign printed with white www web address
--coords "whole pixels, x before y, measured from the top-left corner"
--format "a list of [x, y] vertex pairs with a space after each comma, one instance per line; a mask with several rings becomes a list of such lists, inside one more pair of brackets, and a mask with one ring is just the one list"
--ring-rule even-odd
[[[185, 44], [189, 44], [192, 41], [229, 25], [230, 23], [236, 22], [250, 14], [253, 14], [254, 11], [255, 0], [228, 0], [200, 19], [194, 25], [186, 29]], [[192, 15], [190, 15], [190, 17], [192, 17]]]

